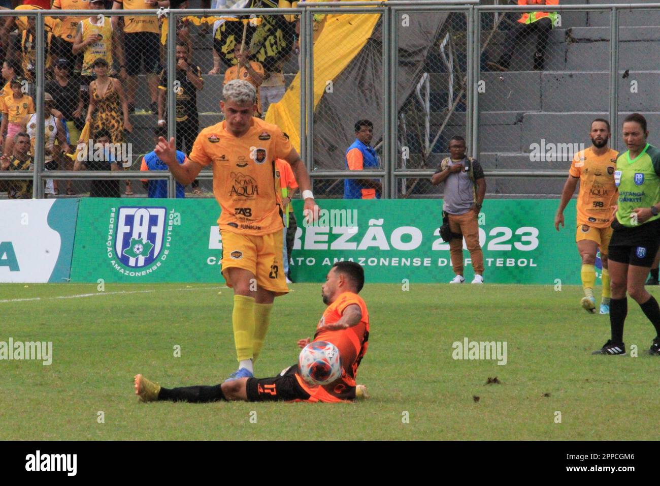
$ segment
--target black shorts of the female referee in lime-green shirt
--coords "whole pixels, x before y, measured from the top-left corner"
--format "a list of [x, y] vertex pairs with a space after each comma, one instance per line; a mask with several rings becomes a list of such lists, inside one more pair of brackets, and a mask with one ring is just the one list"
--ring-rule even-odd
[[660, 220], [626, 227], [617, 220], [612, 222], [607, 259], [618, 263], [650, 267], [660, 247]]

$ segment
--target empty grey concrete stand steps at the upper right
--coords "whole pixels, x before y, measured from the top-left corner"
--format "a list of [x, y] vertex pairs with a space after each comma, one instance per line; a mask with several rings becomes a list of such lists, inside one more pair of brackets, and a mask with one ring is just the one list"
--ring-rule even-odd
[[[562, 5], [598, 5], [607, 0], [562, 0]], [[622, 0], [616, 3], [636, 3]], [[657, 85], [660, 64], [660, 11], [620, 11], [618, 52], [620, 75], [619, 112], [642, 112], [649, 126], [660, 123], [660, 98], [652, 87]], [[656, 28], [649, 28], [656, 27]], [[482, 30], [483, 37], [483, 30]], [[506, 83], [514, 93], [486, 89], [479, 97], [480, 160], [488, 169], [566, 169], [566, 161], [532, 162], [529, 146], [541, 139], [553, 143], [587, 143], [589, 122], [606, 116], [609, 104], [610, 14], [601, 12], [566, 12], [562, 26], [552, 29], [546, 50], [545, 71], [532, 71], [533, 37], [522, 44], [523, 52], [514, 57], [509, 72], [484, 71], [486, 85]], [[486, 58], [496, 58], [505, 34], [494, 36]], [[489, 56], [490, 54], [490, 56]], [[482, 60], [483, 61], [483, 60]], [[640, 89], [630, 93], [630, 80], [624, 71], [634, 72]], [[500, 77], [504, 81], [500, 81]], [[644, 89], [641, 87], [644, 86]], [[589, 108], [593, 107], [593, 108]], [[585, 109], [586, 108], [586, 109]], [[456, 114], [455, 118], [461, 118]], [[618, 137], [619, 139], [620, 137]], [[616, 140], [614, 147], [621, 147]], [[588, 146], [588, 145], [587, 145]], [[440, 155], [437, 156], [440, 161]], [[488, 195], [541, 196], [561, 194], [564, 179], [489, 179]]]

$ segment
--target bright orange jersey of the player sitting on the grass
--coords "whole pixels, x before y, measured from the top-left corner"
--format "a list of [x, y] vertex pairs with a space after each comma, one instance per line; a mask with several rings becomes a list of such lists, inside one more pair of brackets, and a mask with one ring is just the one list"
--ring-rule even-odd
[[[360, 322], [353, 327], [339, 331], [325, 329], [326, 325], [339, 321], [349, 305], [360, 306], [360, 311], [362, 311]], [[355, 377], [369, 344], [369, 313], [364, 300], [352, 292], [341, 294], [323, 312], [323, 317], [316, 327], [314, 341], [327, 341], [337, 346], [339, 356], [341, 356], [342, 374], [340, 380], [325, 386], [309, 385], [300, 375], [296, 374], [298, 384], [310, 394], [309, 401], [338, 402], [354, 399]]]

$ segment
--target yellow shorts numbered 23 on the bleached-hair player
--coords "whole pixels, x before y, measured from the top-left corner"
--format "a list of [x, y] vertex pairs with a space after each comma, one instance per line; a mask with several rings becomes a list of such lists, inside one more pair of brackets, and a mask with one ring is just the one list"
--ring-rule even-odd
[[222, 239], [222, 276], [228, 287], [228, 268], [243, 268], [257, 277], [257, 286], [275, 292], [288, 293], [282, 266], [282, 231], [270, 235], [253, 236], [220, 230]]

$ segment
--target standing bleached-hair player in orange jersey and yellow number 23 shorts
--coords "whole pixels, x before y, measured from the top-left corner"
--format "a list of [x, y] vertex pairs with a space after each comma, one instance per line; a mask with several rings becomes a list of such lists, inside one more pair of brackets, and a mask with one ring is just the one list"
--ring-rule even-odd
[[282, 267], [284, 208], [275, 159], [284, 159], [296, 175], [304, 213], [314, 212], [310, 176], [296, 149], [277, 125], [253, 116], [257, 93], [247, 81], [222, 89], [225, 120], [202, 130], [183, 164], [176, 160], [174, 138], [160, 138], [155, 152], [184, 186], [202, 167], [213, 167], [213, 194], [220, 204], [222, 276], [234, 288], [232, 324], [238, 371], [230, 380], [253, 376], [276, 296], [288, 292]]

